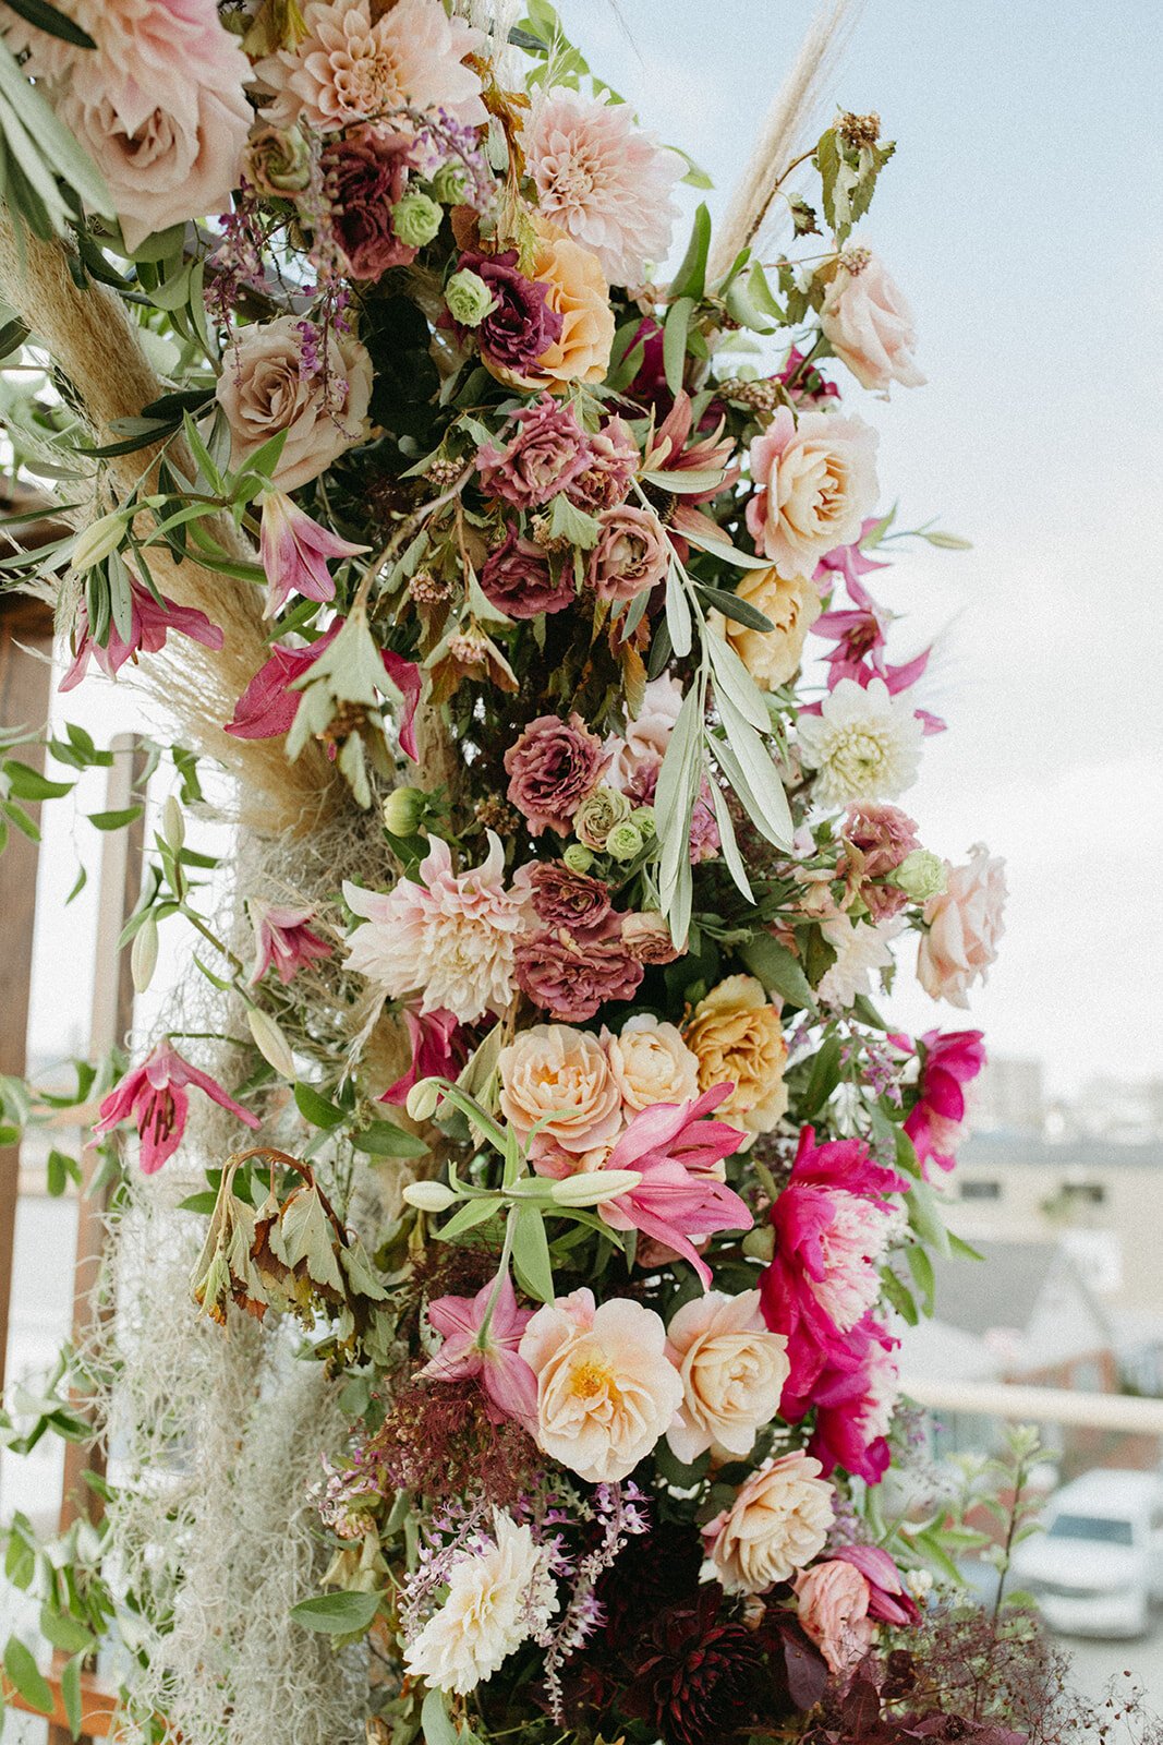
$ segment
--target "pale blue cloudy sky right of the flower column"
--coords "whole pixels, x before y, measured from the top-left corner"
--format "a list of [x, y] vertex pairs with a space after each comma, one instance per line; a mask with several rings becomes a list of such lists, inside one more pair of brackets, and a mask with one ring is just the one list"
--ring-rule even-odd
[[[715, 176], [713, 213], [811, 16], [563, 3], [591, 65]], [[905, 651], [943, 632], [928, 700], [950, 731], [907, 804], [931, 846], [1008, 857], [971, 1017], [1062, 1091], [1163, 1075], [1161, 68], [1158, 0], [868, 0], [833, 80], [898, 141], [861, 229], [929, 377], [853, 400], [886, 504], [975, 541], [879, 578], [914, 614]], [[959, 1021], [910, 981], [903, 1017]]]

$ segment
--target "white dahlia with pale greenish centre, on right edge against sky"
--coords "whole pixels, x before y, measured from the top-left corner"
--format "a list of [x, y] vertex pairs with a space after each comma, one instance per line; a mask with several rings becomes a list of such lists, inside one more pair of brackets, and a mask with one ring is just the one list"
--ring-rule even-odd
[[924, 729], [884, 679], [840, 679], [818, 715], [800, 715], [800, 756], [816, 771], [813, 797], [828, 811], [853, 801], [896, 799], [917, 780]]

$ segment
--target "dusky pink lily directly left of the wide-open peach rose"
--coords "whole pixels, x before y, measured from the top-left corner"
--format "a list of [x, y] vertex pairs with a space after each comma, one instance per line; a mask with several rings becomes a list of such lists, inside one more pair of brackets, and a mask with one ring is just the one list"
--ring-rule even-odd
[[518, 1345], [534, 1312], [518, 1309], [509, 1274], [500, 1279], [500, 1288], [497, 1279], [490, 1279], [476, 1297], [436, 1297], [427, 1305], [427, 1317], [445, 1344], [420, 1375], [434, 1382], [478, 1377], [493, 1424], [514, 1419], [532, 1434], [537, 1426], [537, 1377], [518, 1354]]

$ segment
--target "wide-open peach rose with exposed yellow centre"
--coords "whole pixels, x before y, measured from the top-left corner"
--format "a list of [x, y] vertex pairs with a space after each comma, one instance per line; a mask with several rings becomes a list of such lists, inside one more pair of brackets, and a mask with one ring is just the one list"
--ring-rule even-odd
[[537, 1443], [591, 1485], [633, 1473], [670, 1426], [682, 1382], [652, 1309], [589, 1290], [537, 1310], [521, 1337], [537, 1375]]

